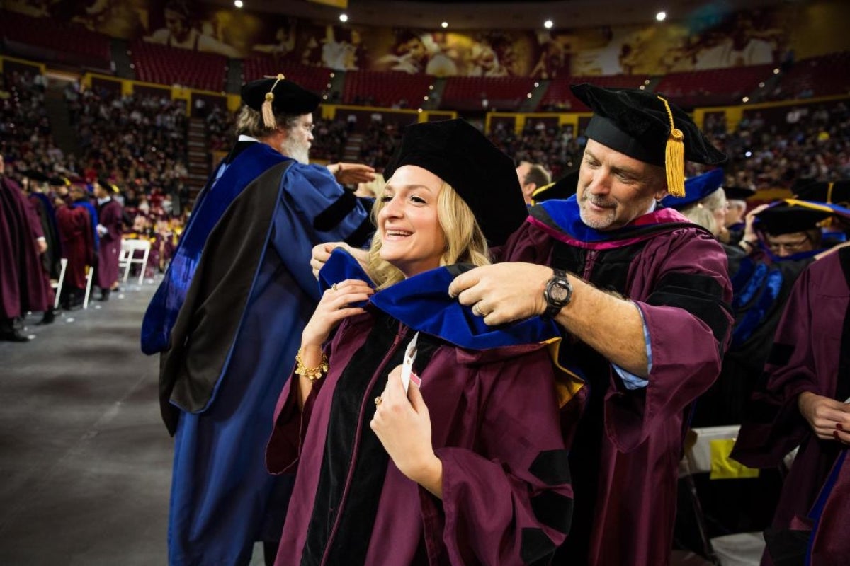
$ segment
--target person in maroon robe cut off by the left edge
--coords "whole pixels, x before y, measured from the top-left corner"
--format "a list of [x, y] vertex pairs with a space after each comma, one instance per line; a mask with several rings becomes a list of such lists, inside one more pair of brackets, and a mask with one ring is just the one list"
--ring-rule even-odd
[[5, 175], [0, 155], [0, 340], [26, 342], [20, 318], [53, 303], [42, 272], [47, 244], [36, 211], [17, 182]]

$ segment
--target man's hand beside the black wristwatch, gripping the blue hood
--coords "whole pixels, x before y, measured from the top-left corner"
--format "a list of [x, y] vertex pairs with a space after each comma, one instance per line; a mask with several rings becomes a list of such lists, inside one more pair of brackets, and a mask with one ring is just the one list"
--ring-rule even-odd
[[497, 263], [455, 277], [449, 294], [489, 326], [523, 320], [546, 312], [543, 291], [553, 277], [551, 267], [533, 263]]

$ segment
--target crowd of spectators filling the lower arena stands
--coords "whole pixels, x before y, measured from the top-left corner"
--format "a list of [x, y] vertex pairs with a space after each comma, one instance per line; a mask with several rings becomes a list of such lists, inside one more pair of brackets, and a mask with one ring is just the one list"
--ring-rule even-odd
[[[48, 176], [108, 178], [125, 191], [128, 209], [153, 208], [183, 216], [186, 188], [186, 104], [155, 95], [122, 96], [109, 90], [81, 91], [71, 83], [65, 102], [77, 132], [79, 155], [54, 143], [44, 102], [43, 76], [10, 72], [0, 76], [0, 150], [14, 169]], [[719, 117], [718, 117], [719, 116]], [[791, 188], [799, 178], [850, 178], [850, 110], [847, 104], [793, 107], [785, 120], [747, 113], [733, 132], [723, 115], [706, 115], [704, 129], [730, 161], [728, 182], [757, 188]], [[207, 151], [225, 152], [235, 141], [235, 115], [213, 107], [206, 115]], [[346, 118], [316, 119], [311, 159], [343, 160], [356, 128]], [[370, 120], [360, 132], [359, 160], [379, 171], [401, 137], [400, 126]], [[543, 165], [553, 178], [579, 165], [584, 143], [572, 126], [527, 120], [522, 132], [496, 123], [490, 139], [514, 160]], [[349, 148], [350, 149], [350, 148]], [[349, 152], [350, 153], [350, 152]], [[701, 172], [690, 168], [688, 175]], [[151, 207], [151, 203], [155, 206]], [[156, 225], [156, 221], [152, 221]], [[148, 227], [149, 230], [152, 227]]]

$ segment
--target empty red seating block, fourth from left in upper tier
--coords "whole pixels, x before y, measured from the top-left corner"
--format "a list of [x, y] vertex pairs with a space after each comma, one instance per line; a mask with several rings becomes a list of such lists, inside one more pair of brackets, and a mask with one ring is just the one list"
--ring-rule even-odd
[[[396, 104], [416, 108], [428, 95], [433, 76], [400, 72], [352, 70], [345, 74], [343, 104], [364, 104], [390, 108]], [[407, 104], [399, 104], [406, 101]]]

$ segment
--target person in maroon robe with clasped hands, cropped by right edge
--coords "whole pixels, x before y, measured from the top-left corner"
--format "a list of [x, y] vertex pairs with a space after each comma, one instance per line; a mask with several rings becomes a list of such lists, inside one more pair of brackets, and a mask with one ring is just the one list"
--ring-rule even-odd
[[[769, 468], [799, 446], [773, 524], [765, 531], [762, 564], [791, 563], [786, 562], [791, 558], [803, 563], [813, 529], [810, 511], [830, 468], [850, 444], [848, 324], [850, 248], [842, 247], [814, 261], [797, 279], [732, 451], [747, 466]], [[847, 492], [832, 494], [833, 503], [837, 496], [846, 498]], [[830, 524], [841, 516], [834, 507], [821, 517], [826, 529], [820, 530], [816, 546], [825, 554], [813, 564], [846, 563], [847, 554], [834, 553], [847, 539], [843, 531], [839, 534], [845, 523]]]

